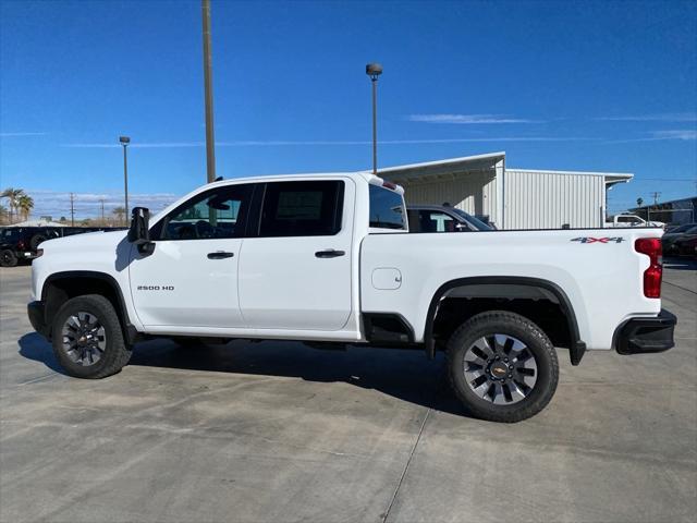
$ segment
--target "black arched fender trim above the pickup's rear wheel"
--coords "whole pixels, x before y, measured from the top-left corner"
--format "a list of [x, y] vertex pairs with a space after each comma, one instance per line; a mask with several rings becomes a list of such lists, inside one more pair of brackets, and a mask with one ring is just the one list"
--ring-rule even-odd
[[571, 333], [571, 345], [568, 349], [568, 353], [571, 356], [571, 364], [578, 365], [580, 363], [580, 358], [584, 356], [586, 352], [586, 343], [580, 340], [580, 336], [578, 333], [578, 323], [576, 321], [576, 313], [574, 313], [574, 307], [568, 300], [568, 296], [564, 292], [564, 290], [559, 287], [557, 283], [542, 280], [540, 278], [528, 278], [523, 276], [475, 276], [470, 278], [457, 278], [455, 280], [450, 280], [443, 283], [438, 288], [433, 297], [431, 297], [431, 303], [428, 307], [428, 314], [426, 316], [426, 327], [424, 329], [424, 343], [426, 344], [426, 355], [429, 360], [436, 357], [436, 340], [433, 339], [433, 323], [436, 320], [436, 315], [438, 313], [438, 305], [440, 304], [441, 299], [445, 295], [445, 293], [452, 289], [457, 287], [467, 287], [467, 285], [523, 285], [523, 287], [538, 287], [540, 289], [545, 289], [559, 300], [559, 304], [566, 317], [566, 323], [568, 326], [568, 332]]

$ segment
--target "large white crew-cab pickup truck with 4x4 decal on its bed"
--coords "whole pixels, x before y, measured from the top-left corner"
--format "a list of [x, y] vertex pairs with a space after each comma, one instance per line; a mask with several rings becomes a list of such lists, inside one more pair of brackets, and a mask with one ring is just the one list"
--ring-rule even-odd
[[554, 348], [673, 346], [661, 230], [406, 234], [403, 190], [363, 172], [220, 181], [148, 215], [34, 260], [29, 319], [71, 376], [151, 337], [444, 351], [470, 414], [516, 422], [551, 400]]

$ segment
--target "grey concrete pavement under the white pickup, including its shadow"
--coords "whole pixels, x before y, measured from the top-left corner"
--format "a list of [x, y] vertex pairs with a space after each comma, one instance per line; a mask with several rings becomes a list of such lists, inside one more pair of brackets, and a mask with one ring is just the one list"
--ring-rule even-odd
[[61, 374], [0, 269], [0, 520], [676, 522], [697, 519], [697, 264], [669, 260], [663, 354], [561, 354], [538, 416], [463, 415], [441, 358], [299, 343], [136, 346]]

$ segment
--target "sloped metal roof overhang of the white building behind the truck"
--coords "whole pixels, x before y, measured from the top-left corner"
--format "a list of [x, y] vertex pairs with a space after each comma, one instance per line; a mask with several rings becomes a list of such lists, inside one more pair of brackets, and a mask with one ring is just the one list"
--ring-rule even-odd
[[396, 183], [409, 181], [438, 180], [444, 175], [453, 177], [458, 173], [482, 172], [494, 170], [497, 163], [505, 159], [505, 153], [489, 153], [487, 155], [449, 158], [447, 160], [427, 161], [406, 166], [387, 167], [378, 169], [380, 178], [387, 178]]

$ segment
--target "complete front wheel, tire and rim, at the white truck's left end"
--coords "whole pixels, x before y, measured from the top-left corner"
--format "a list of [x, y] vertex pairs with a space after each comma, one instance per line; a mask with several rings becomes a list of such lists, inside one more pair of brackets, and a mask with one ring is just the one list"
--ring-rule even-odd
[[129, 363], [131, 348], [121, 323], [105, 296], [87, 294], [65, 302], [52, 326], [56, 357], [77, 378], [106, 378]]

